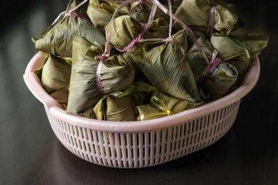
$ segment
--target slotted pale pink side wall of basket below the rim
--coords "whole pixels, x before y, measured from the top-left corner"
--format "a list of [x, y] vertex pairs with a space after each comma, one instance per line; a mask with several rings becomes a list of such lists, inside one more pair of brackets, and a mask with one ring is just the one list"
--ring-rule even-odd
[[163, 164], [218, 141], [233, 125], [240, 100], [216, 112], [148, 132], [104, 132], [55, 118], [44, 107], [52, 130], [74, 155], [101, 166], [142, 168]]

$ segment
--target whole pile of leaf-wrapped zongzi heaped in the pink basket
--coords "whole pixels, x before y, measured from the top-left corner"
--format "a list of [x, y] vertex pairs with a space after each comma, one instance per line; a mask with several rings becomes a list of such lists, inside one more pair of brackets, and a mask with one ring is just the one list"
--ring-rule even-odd
[[69, 114], [142, 121], [192, 109], [234, 90], [268, 43], [266, 34], [230, 34], [240, 20], [222, 0], [183, 0], [177, 9], [90, 0], [88, 14], [77, 1], [33, 39], [47, 53], [35, 73]]

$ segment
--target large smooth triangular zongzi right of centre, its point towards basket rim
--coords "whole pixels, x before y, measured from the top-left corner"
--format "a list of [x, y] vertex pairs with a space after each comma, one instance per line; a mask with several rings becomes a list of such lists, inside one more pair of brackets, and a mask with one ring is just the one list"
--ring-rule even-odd
[[[187, 51], [186, 38], [185, 30], [172, 35], [172, 39], [185, 51]], [[152, 85], [161, 91], [178, 98], [200, 100], [188, 61], [174, 44], [169, 42], [147, 44], [145, 48], [132, 53], [132, 57]]]

